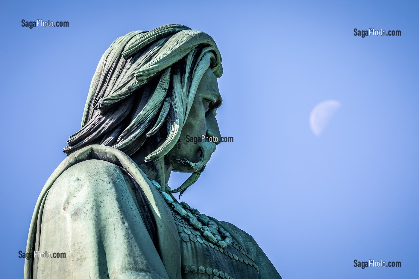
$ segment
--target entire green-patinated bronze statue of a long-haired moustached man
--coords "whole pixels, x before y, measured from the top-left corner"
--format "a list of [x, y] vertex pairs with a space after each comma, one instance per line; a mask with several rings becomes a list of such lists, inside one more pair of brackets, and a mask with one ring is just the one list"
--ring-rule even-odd
[[[220, 143], [221, 75], [215, 42], [186, 26], [111, 44], [29, 231], [27, 251], [67, 258], [26, 261], [25, 278], [281, 278], [250, 235], [172, 195]], [[192, 174], [171, 190], [172, 171]]]

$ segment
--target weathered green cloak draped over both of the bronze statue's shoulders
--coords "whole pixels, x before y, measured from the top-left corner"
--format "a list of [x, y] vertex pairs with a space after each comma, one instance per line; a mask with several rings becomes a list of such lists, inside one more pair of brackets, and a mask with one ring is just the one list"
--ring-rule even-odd
[[[260, 278], [281, 278], [250, 235], [211, 219], [256, 258]], [[129, 156], [104, 145], [73, 152], [49, 177], [29, 229], [26, 252], [33, 251], [51, 258], [25, 260], [25, 279], [182, 277], [166, 202]], [[52, 257], [63, 252], [65, 258]]]

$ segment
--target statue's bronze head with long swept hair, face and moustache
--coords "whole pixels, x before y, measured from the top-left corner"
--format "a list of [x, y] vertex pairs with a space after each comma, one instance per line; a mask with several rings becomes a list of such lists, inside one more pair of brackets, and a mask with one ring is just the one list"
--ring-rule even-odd
[[221, 75], [220, 52], [202, 31], [170, 24], [130, 32], [103, 54], [81, 129], [63, 151], [68, 155], [100, 144], [131, 156], [147, 147], [146, 163], [166, 156], [174, 171], [193, 172], [190, 179], [196, 181], [217, 142], [194, 144], [186, 137], [219, 135], [215, 109], [222, 100], [216, 78]]

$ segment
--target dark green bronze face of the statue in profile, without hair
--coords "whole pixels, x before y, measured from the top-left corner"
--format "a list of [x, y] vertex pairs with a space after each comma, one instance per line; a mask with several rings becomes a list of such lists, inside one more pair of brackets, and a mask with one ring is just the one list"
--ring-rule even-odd
[[[196, 168], [179, 163], [178, 159], [186, 158], [191, 162], [199, 162], [202, 159], [202, 151], [197, 144], [198, 140], [211, 140], [215, 144], [220, 143], [220, 129], [218, 128], [215, 115], [221, 103], [222, 98], [218, 89], [217, 78], [208, 69], [199, 82], [197, 93], [189, 111], [189, 116], [182, 128], [181, 136], [173, 149], [168, 152], [167, 156], [173, 164], [173, 171], [197, 171]], [[191, 139], [195, 139], [195, 141]]]

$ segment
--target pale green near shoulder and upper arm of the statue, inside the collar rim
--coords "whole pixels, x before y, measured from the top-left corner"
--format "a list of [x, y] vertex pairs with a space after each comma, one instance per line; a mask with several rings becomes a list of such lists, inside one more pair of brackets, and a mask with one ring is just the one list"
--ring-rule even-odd
[[41, 202], [34, 250], [65, 252], [71, 261], [39, 261], [37, 274], [168, 279], [159, 257], [163, 249], [156, 249], [153, 224], [143, 215], [146, 205], [137, 203], [133, 183], [104, 160], [81, 161], [62, 172]]

